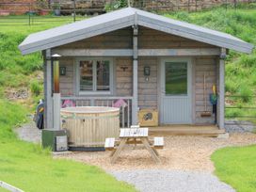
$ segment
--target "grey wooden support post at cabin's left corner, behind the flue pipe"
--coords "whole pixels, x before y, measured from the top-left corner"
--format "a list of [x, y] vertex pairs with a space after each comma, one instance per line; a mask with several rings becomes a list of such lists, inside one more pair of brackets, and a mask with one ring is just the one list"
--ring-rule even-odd
[[51, 50], [47, 49], [44, 59], [44, 128], [52, 129], [53, 122], [53, 78]]

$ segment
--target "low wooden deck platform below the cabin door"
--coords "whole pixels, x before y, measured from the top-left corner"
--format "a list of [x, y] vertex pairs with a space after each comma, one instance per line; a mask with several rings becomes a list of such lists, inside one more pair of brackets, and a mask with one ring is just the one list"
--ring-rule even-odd
[[149, 128], [150, 136], [209, 136], [225, 134], [216, 125], [164, 125]]

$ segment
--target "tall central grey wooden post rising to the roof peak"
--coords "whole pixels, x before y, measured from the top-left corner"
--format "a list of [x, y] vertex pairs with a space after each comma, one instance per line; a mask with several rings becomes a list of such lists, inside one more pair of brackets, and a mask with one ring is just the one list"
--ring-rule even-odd
[[[135, 15], [135, 20], [136, 15]], [[133, 26], [133, 44], [134, 44], [134, 54], [133, 54], [133, 104], [132, 104], [132, 123], [137, 123], [137, 25]]]

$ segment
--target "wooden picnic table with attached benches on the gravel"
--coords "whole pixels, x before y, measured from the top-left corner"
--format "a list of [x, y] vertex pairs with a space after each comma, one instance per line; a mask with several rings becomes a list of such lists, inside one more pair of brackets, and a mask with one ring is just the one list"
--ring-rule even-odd
[[115, 163], [120, 152], [126, 144], [142, 144], [148, 152], [152, 155], [152, 159], [156, 163], [160, 163], [159, 153], [156, 149], [163, 149], [164, 138], [154, 137], [153, 140], [149, 139], [149, 129], [139, 128], [133, 126], [134, 128], [124, 128], [120, 129], [120, 140], [115, 138], [106, 138], [104, 143], [104, 148], [106, 151], [112, 151], [111, 163]]

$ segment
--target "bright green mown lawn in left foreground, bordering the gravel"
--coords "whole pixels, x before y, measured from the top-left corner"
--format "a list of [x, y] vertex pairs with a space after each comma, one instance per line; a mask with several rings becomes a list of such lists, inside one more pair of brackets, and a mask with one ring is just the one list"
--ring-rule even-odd
[[24, 123], [26, 113], [20, 104], [0, 100], [0, 181], [33, 192], [135, 191], [100, 168], [54, 160], [40, 145], [18, 140], [12, 127]]

